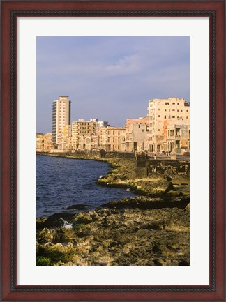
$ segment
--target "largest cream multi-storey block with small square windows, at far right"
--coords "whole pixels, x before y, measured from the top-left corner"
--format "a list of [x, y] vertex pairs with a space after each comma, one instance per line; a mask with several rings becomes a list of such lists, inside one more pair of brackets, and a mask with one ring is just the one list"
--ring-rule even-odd
[[[169, 137], [167, 130], [170, 130], [169, 126], [173, 126], [173, 128], [176, 129], [174, 127], [176, 125], [190, 125], [189, 103], [183, 98], [150, 100], [148, 107], [148, 117], [149, 151], [156, 153], [169, 151], [168, 147], [170, 146], [170, 144], [168, 144]], [[176, 140], [174, 141], [174, 144], [177, 144]], [[176, 146], [174, 146], [173, 149], [176, 150]]]

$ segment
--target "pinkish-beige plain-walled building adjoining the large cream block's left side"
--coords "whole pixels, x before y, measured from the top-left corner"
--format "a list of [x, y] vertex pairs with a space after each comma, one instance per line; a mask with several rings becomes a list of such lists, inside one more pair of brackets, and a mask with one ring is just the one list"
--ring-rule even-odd
[[125, 151], [148, 150], [149, 118], [126, 119]]

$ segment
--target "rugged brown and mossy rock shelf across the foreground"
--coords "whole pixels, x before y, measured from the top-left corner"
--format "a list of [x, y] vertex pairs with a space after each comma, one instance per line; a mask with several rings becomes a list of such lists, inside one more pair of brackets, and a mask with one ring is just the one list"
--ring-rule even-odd
[[99, 209], [37, 234], [38, 265], [189, 265], [189, 211]]

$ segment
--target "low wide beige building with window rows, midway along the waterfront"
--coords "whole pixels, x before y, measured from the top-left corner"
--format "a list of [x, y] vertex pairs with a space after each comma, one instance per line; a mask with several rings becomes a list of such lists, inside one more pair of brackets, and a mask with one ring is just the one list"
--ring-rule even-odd
[[103, 127], [99, 130], [99, 147], [105, 151], [124, 151], [126, 128]]

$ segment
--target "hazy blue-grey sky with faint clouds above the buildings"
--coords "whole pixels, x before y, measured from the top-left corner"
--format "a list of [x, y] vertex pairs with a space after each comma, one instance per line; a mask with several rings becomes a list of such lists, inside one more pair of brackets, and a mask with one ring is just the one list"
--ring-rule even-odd
[[71, 122], [147, 115], [149, 100], [190, 101], [189, 36], [36, 36], [36, 132], [52, 132], [52, 102], [71, 101]]

